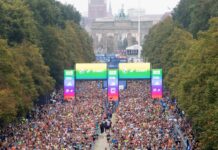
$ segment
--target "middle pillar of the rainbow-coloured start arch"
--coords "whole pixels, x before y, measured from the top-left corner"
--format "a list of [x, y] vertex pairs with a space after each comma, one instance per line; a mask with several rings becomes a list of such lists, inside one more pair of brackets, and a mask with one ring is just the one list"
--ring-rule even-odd
[[108, 101], [119, 100], [118, 70], [108, 70]]

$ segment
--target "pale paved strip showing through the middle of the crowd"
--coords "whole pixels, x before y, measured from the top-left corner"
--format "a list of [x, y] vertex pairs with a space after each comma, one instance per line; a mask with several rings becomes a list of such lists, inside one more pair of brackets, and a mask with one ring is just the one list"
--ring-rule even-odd
[[[111, 121], [113, 125], [116, 121], [116, 114], [113, 114]], [[98, 140], [96, 141], [96, 144], [95, 144], [95, 150], [110, 150], [105, 133], [101, 134], [98, 137]]]

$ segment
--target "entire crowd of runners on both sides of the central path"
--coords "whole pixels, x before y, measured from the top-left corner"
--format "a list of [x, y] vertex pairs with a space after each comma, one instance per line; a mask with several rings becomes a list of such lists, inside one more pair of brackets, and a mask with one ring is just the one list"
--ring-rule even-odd
[[36, 106], [30, 119], [1, 131], [0, 149], [92, 150], [104, 132], [112, 150], [194, 149], [191, 126], [175, 103], [164, 98], [163, 107], [151, 99], [149, 82], [128, 81], [116, 109], [106, 102], [101, 84], [78, 81], [73, 102], [63, 101], [63, 90], [55, 92], [51, 103]]

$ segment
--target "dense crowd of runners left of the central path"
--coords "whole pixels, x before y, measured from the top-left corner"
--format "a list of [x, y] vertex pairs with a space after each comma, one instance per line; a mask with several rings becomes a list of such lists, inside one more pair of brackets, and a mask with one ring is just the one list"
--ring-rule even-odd
[[52, 104], [36, 107], [31, 120], [1, 131], [0, 149], [92, 149], [107, 93], [96, 81], [77, 82], [76, 90], [74, 102], [63, 102], [60, 90]]

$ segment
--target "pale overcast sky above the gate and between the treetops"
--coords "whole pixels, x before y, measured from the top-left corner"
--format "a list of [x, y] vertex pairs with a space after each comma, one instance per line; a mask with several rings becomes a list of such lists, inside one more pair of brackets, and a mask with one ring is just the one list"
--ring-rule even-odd
[[[64, 4], [72, 4], [82, 15], [87, 15], [88, 0], [58, 0]], [[117, 14], [118, 10], [124, 4], [125, 9], [138, 8], [140, 6], [145, 9], [147, 14], [163, 14], [173, 10], [180, 0], [107, 0], [111, 1], [113, 14]]]

